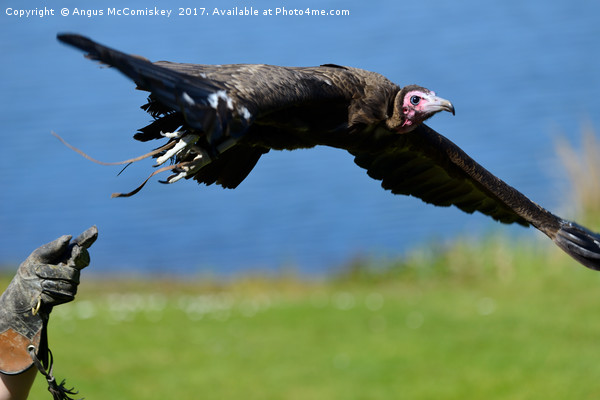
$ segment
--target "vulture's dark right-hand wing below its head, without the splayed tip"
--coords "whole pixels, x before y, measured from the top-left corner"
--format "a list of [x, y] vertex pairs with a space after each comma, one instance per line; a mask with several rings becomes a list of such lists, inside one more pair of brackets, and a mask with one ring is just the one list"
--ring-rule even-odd
[[352, 152], [355, 162], [382, 187], [437, 206], [479, 211], [503, 223], [556, 225], [554, 217], [475, 162], [426, 125], [388, 135], [369, 151]]

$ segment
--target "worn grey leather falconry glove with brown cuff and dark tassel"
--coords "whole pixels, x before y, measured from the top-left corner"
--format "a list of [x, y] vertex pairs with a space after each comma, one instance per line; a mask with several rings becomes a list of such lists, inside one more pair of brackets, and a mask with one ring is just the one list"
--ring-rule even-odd
[[90, 262], [87, 249], [97, 237], [93, 226], [73, 241], [65, 235], [39, 247], [0, 297], [0, 372], [19, 374], [35, 363], [56, 399], [74, 393], [54, 382], [48, 319], [54, 306], [75, 298], [80, 270]]

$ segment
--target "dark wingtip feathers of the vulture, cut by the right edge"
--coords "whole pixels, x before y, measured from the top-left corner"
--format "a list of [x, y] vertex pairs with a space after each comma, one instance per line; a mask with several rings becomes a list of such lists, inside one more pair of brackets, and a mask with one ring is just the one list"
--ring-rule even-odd
[[600, 235], [571, 221], [560, 221], [554, 243], [581, 264], [600, 271]]

